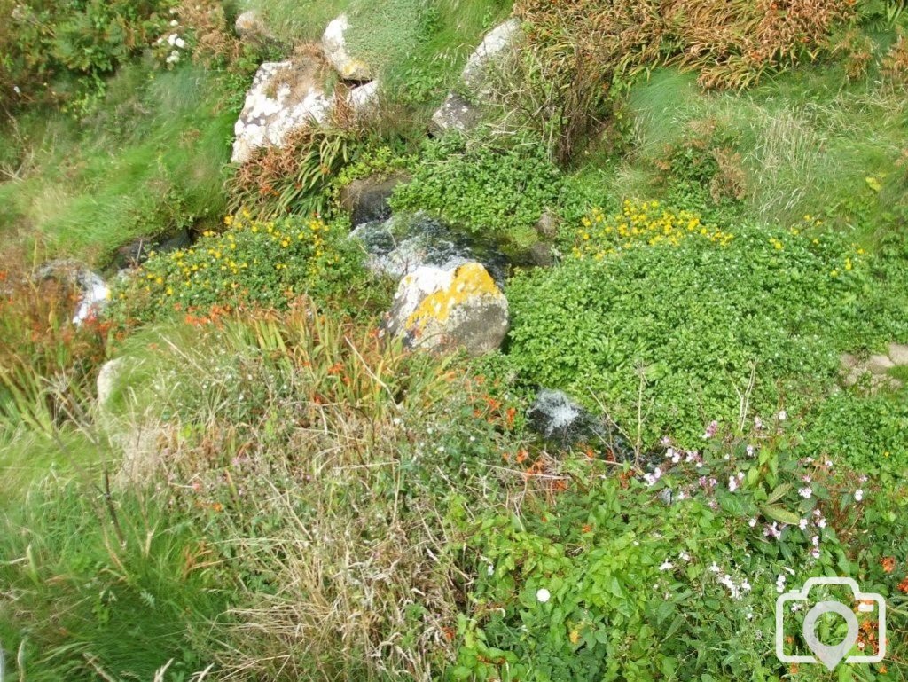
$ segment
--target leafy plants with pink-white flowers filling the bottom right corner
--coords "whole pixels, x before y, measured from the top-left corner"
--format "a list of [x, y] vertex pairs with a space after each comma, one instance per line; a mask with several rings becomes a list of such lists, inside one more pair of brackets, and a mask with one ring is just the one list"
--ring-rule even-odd
[[[781, 425], [714, 432], [702, 452], [668, 448], [645, 480], [596, 476], [591, 460], [549, 463], [545, 474], [568, 481], [561, 493], [528, 501], [519, 518], [481, 514], [452, 677], [777, 679], [779, 586], [852, 577], [898, 603], [903, 486], [872, 493], [857, 472], [805, 463], [796, 429]], [[538, 475], [538, 462], [528, 470]], [[905, 626], [903, 613], [889, 623]], [[787, 650], [803, 647], [799, 633]]]

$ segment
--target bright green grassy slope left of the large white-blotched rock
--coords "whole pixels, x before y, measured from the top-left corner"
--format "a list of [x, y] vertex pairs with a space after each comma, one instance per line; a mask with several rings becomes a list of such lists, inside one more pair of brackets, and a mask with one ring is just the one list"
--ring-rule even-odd
[[[47, 257], [104, 265], [116, 247], [217, 221], [236, 111], [217, 74], [194, 67], [123, 69], [82, 125], [38, 112], [20, 122], [27, 163], [0, 184], [0, 232]], [[226, 105], [225, 105], [226, 103]]]

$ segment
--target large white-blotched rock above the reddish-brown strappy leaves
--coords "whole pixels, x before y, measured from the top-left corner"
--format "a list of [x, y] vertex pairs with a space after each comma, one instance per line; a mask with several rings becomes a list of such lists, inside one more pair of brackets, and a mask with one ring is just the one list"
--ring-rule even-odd
[[321, 87], [320, 72], [315, 59], [259, 67], [233, 128], [233, 163], [249, 161], [260, 147], [281, 147], [294, 130], [328, 119], [333, 102]]

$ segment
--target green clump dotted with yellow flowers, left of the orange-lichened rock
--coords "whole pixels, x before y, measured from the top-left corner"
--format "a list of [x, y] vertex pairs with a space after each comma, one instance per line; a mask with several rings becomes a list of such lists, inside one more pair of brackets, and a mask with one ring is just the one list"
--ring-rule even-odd
[[191, 248], [153, 254], [114, 292], [114, 318], [241, 304], [282, 309], [303, 294], [355, 306], [369, 295], [361, 252], [345, 225], [300, 217], [263, 222], [248, 212], [224, 222], [225, 232], [204, 232]]

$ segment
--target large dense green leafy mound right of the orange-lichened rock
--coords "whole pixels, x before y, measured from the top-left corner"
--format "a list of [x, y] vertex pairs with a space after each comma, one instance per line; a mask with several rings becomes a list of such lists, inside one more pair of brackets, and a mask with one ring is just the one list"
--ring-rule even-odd
[[[617, 227], [646, 229], [634, 217]], [[809, 236], [811, 225], [617, 249], [609, 235], [597, 248], [584, 226], [576, 257], [512, 282], [511, 359], [528, 381], [601, 400], [625, 425], [640, 397], [650, 441], [696, 438], [691, 425], [737, 420], [742, 403], [801, 405], [805, 386], [834, 384], [842, 351], [908, 338], [904, 265], [883, 278], [882, 257]]]

